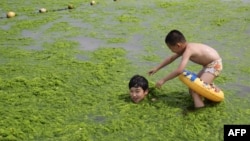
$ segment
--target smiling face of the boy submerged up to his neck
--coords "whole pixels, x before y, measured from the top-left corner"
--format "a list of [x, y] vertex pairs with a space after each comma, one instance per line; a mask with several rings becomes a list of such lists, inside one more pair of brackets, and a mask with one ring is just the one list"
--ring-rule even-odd
[[138, 103], [148, 94], [148, 90], [144, 91], [141, 87], [131, 87], [129, 93], [133, 102]]

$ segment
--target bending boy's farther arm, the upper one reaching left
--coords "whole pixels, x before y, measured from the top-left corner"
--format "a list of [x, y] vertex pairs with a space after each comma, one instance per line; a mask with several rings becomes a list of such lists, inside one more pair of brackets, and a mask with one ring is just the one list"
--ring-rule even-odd
[[158, 70], [160, 70], [161, 68], [165, 67], [166, 65], [172, 63], [175, 59], [177, 59], [178, 57], [180, 57], [180, 55], [178, 54], [174, 54], [170, 57], [167, 57], [166, 59], [164, 59], [157, 67], [153, 68], [152, 70], [150, 70], [148, 73], [149, 75], [153, 75], [154, 73], [156, 73]]

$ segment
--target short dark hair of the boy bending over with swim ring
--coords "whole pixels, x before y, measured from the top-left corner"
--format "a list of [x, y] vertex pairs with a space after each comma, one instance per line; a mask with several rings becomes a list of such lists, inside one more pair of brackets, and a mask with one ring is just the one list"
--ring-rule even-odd
[[176, 45], [179, 42], [186, 42], [184, 35], [178, 30], [171, 30], [165, 38], [165, 43]]

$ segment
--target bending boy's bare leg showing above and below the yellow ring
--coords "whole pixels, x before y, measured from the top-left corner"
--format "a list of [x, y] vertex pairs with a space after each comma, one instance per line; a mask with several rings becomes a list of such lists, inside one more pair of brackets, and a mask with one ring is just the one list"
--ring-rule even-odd
[[[203, 72], [200, 74], [200, 79], [208, 84], [211, 84], [214, 80], [215, 76], [211, 73]], [[190, 94], [192, 95], [192, 98], [194, 100], [194, 107], [200, 108], [204, 107], [204, 102], [202, 96], [198, 95], [196, 92], [190, 90]]]

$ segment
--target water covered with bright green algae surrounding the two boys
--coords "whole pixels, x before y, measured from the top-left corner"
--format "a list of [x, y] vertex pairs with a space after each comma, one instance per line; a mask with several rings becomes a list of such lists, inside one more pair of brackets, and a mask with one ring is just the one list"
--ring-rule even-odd
[[[250, 124], [247, 0], [4, 0], [0, 4], [0, 140], [223, 140], [224, 124]], [[74, 9], [68, 10], [68, 4]], [[39, 13], [40, 8], [47, 13]], [[8, 11], [17, 16], [6, 18]], [[171, 52], [172, 29], [213, 46], [225, 100], [202, 110], [178, 79], [134, 104], [128, 81]], [[200, 67], [190, 63], [188, 70]], [[156, 97], [156, 101], [150, 101]]]

